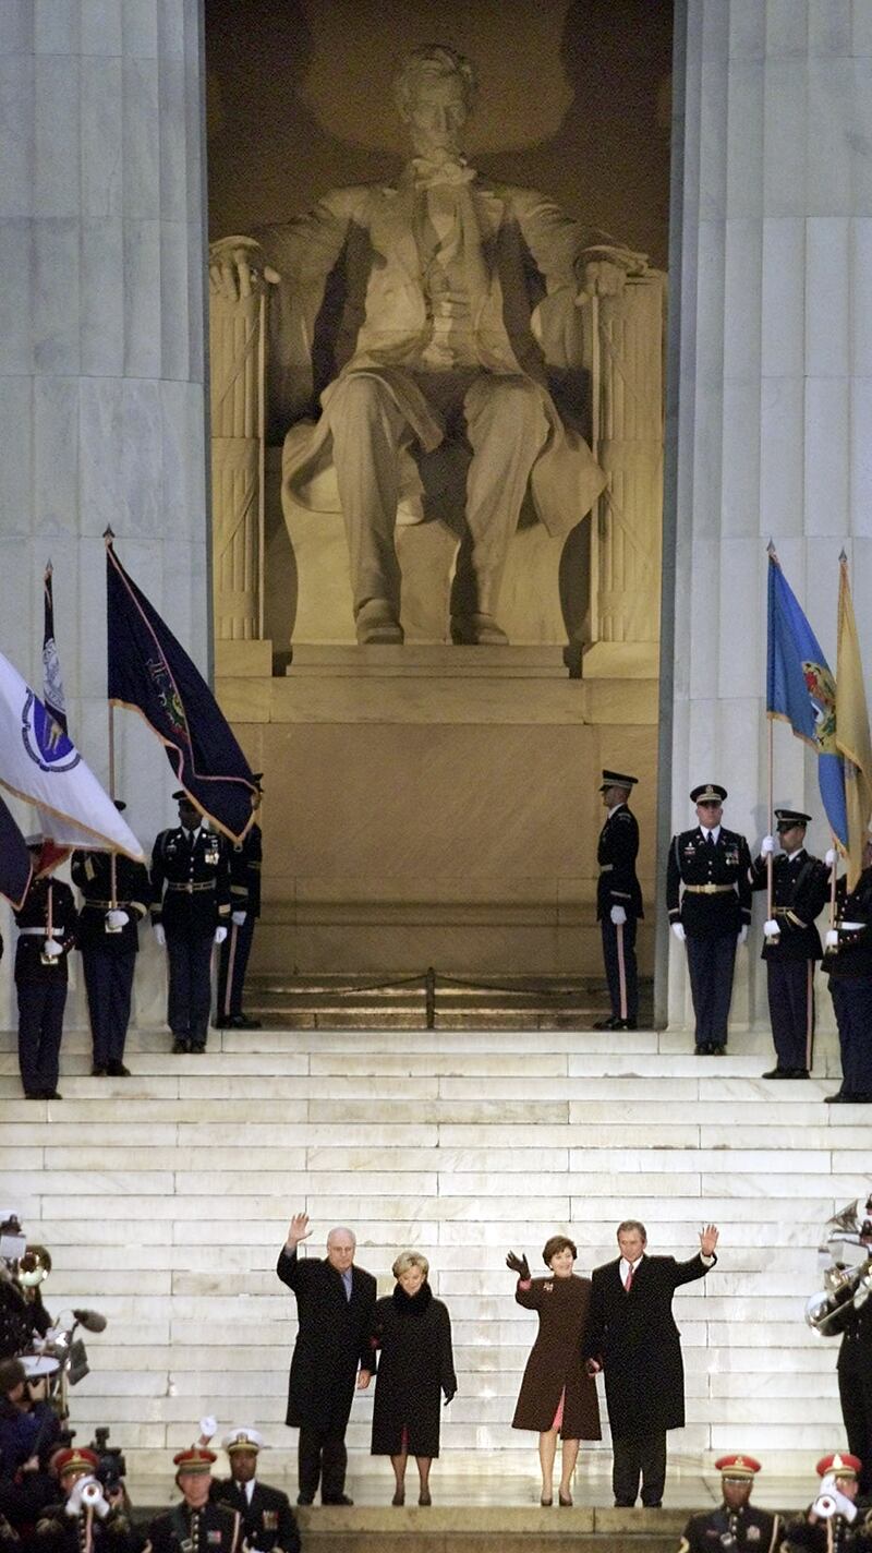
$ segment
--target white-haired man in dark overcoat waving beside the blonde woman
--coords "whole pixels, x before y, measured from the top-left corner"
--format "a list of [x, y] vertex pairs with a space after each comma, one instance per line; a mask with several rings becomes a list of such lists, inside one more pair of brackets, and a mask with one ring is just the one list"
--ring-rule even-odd
[[357, 1241], [348, 1228], [330, 1230], [323, 1261], [301, 1261], [296, 1247], [310, 1233], [309, 1214], [296, 1213], [276, 1267], [296, 1295], [299, 1318], [285, 1418], [299, 1429], [296, 1503], [310, 1505], [320, 1480], [323, 1505], [351, 1505], [344, 1492], [344, 1432], [355, 1384], [365, 1390], [375, 1367], [369, 1342], [375, 1280], [354, 1266]]

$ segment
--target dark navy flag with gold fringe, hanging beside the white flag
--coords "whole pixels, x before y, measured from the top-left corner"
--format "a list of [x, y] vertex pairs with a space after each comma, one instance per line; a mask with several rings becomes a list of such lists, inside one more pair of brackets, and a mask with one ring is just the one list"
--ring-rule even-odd
[[248, 761], [185, 648], [106, 547], [109, 699], [140, 711], [216, 829], [240, 840], [258, 790]]

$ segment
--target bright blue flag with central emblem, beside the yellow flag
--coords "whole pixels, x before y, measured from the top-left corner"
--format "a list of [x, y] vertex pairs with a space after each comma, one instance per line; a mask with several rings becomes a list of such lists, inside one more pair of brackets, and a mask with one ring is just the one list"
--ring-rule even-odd
[[836, 749], [836, 682], [779, 558], [770, 547], [766, 713], [818, 752], [818, 786], [833, 836], [847, 846], [844, 761]]

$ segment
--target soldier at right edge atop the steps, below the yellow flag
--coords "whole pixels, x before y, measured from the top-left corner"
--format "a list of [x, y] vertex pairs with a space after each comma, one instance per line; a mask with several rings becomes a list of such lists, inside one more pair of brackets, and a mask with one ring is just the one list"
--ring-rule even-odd
[[[835, 853], [827, 853], [827, 860]], [[853, 890], [838, 882], [838, 919], [827, 933], [824, 971], [839, 1030], [841, 1089], [829, 1104], [872, 1103], [872, 842], [863, 848], [863, 873]]]

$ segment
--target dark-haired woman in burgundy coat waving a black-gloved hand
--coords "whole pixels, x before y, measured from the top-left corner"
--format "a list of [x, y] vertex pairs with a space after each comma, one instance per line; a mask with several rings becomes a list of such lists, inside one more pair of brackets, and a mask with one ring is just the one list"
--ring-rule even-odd
[[515, 1300], [538, 1312], [538, 1336], [521, 1381], [512, 1429], [538, 1430], [542, 1505], [552, 1502], [557, 1435], [563, 1440], [560, 1503], [571, 1505], [571, 1482], [580, 1440], [599, 1440], [596, 1382], [585, 1373], [582, 1339], [588, 1317], [590, 1278], [577, 1278], [576, 1246], [552, 1235], [542, 1249], [548, 1278], [531, 1278], [526, 1256], [509, 1252], [506, 1266], [518, 1273]]

